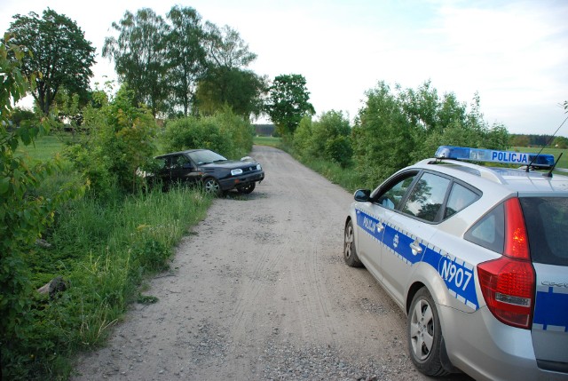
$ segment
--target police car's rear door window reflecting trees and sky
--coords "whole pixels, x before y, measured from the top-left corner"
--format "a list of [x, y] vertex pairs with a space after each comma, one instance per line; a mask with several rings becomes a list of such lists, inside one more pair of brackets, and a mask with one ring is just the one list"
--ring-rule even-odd
[[450, 182], [450, 179], [433, 173], [424, 173], [416, 182], [402, 211], [430, 222], [439, 220], [438, 212], [442, 208]]

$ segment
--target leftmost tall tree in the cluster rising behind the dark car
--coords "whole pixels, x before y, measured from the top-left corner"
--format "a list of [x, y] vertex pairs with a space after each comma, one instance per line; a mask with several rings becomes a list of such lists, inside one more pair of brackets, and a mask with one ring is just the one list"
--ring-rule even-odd
[[134, 91], [137, 104], [150, 107], [154, 116], [165, 111], [170, 97], [169, 26], [149, 8], [138, 10], [136, 15], [127, 11], [112, 26], [119, 36], [118, 39], [106, 37], [103, 57], [114, 60], [119, 80]]

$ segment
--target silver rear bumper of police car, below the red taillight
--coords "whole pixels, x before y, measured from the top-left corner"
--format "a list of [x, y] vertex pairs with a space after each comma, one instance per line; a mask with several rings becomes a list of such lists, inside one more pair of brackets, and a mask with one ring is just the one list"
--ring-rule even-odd
[[477, 380], [566, 380], [539, 369], [528, 329], [497, 321], [486, 306], [474, 313], [438, 306], [450, 361]]

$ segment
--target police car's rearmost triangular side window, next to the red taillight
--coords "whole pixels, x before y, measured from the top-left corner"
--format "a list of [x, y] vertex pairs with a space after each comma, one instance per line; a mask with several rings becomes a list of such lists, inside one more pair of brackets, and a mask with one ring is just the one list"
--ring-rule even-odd
[[469, 242], [498, 253], [505, 246], [505, 214], [503, 204], [493, 208], [463, 235]]

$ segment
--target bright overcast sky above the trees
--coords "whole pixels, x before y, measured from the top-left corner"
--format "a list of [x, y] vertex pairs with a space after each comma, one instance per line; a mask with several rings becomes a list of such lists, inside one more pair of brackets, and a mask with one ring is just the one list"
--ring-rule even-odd
[[[50, 0], [97, 48], [93, 82], [115, 78], [100, 57], [111, 24], [125, 11], [152, 8], [165, 17], [191, 6], [219, 27], [229, 25], [258, 55], [249, 68], [273, 78], [301, 74], [318, 115], [351, 120], [379, 81], [417, 88], [430, 80], [440, 94], [470, 103], [476, 91], [485, 120], [511, 133], [551, 134], [567, 115], [568, 1], [446, 0]], [[0, 28], [12, 16], [41, 12], [44, 0], [2, 0]], [[261, 121], [262, 122], [262, 121]], [[568, 136], [568, 123], [559, 131]]]

